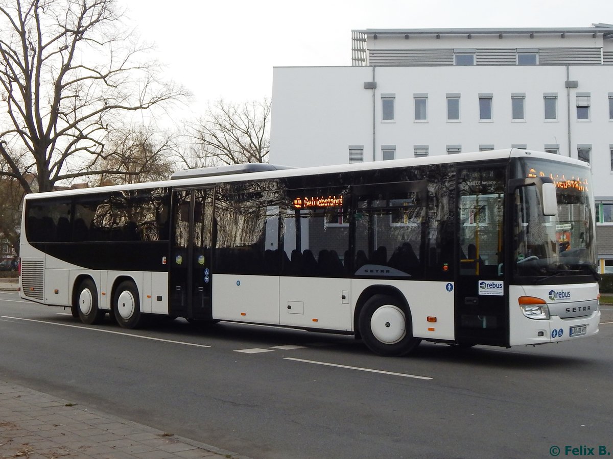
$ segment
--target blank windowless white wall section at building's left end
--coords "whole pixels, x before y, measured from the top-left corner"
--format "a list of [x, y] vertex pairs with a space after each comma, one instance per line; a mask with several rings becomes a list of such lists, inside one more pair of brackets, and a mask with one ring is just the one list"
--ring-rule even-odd
[[372, 111], [362, 108], [372, 105], [372, 92], [363, 89], [364, 81], [371, 79], [370, 67], [276, 68], [270, 142], [271, 151], [279, 154], [270, 162], [346, 163], [341, 152], [347, 152], [349, 144], [372, 144]]

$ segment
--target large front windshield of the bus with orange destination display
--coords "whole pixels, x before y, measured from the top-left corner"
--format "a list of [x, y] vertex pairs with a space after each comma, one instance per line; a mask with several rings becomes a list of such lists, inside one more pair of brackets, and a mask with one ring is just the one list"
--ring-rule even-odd
[[557, 215], [543, 215], [535, 185], [514, 190], [514, 274], [550, 283], [554, 277], [565, 282], [569, 275], [595, 275], [595, 207], [588, 171], [564, 163], [520, 164], [522, 177], [553, 179], [558, 209]]

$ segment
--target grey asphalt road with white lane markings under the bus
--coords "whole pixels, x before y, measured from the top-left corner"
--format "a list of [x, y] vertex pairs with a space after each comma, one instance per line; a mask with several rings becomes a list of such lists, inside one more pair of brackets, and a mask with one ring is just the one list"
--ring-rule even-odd
[[1, 379], [253, 458], [613, 452], [612, 345], [604, 323], [573, 343], [384, 358], [299, 330], [83, 326], [0, 293]]

